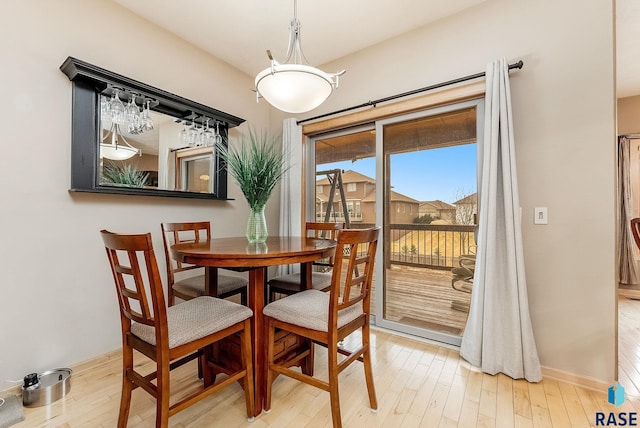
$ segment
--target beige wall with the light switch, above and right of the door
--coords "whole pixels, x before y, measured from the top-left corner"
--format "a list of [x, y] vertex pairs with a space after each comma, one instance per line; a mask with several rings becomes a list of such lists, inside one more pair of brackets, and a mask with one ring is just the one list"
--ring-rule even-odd
[[[616, 367], [613, 5], [489, 0], [322, 66], [340, 88], [307, 117], [484, 71], [511, 73], [529, 302], [543, 366], [610, 383]], [[366, 78], [363, 78], [366, 76]], [[533, 224], [534, 207], [549, 225]]]

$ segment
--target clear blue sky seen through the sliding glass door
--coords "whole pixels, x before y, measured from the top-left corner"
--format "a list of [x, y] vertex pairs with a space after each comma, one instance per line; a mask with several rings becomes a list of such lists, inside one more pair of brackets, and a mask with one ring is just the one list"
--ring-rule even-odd
[[[375, 178], [375, 158], [318, 165], [318, 170], [353, 170]], [[419, 201], [453, 203], [476, 191], [476, 145], [391, 155], [394, 191]]]

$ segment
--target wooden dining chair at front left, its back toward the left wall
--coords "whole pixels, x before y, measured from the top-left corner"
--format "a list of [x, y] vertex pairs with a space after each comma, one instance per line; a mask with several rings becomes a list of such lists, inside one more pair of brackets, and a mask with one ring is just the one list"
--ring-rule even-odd
[[[167, 427], [170, 416], [236, 381], [242, 381], [247, 418], [253, 420], [251, 309], [210, 296], [167, 308], [151, 234], [122, 235], [106, 230], [100, 233], [116, 286], [122, 326], [118, 427], [127, 426], [131, 393], [137, 387], [156, 399], [156, 427]], [[214, 343], [236, 333], [240, 335], [242, 362], [238, 371], [231, 372], [206, 357], [212, 354]], [[155, 361], [153, 373], [135, 370], [134, 349]], [[170, 371], [192, 360], [194, 355], [200, 356], [204, 388], [170, 405]], [[227, 376], [216, 382], [214, 368]]]

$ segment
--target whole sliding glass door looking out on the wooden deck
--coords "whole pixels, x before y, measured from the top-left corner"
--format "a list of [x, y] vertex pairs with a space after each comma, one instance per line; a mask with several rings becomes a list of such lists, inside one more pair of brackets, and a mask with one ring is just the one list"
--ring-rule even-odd
[[481, 123], [471, 101], [311, 139], [307, 220], [382, 227], [376, 325], [459, 345], [471, 287], [451, 270], [475, 253]]

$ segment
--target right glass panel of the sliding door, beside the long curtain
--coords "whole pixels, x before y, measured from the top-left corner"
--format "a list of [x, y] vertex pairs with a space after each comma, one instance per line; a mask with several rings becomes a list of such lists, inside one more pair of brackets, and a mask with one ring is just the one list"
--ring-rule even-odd
[[477, 118], [473, 103], [376, 124], [380, 326], [460, 344], [471, 294], [452, 287], [451, 271], [475, 253]]

